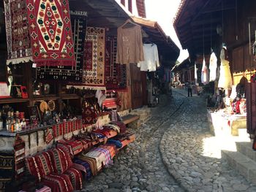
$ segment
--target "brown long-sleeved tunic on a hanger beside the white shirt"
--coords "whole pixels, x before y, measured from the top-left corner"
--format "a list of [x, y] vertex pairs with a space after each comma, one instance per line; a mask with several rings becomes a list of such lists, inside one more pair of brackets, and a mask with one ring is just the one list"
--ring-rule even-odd
[[141, 27], [127, 20], [117, 29], [116, 63], [138, 64], [140, 61], [144, 61]]

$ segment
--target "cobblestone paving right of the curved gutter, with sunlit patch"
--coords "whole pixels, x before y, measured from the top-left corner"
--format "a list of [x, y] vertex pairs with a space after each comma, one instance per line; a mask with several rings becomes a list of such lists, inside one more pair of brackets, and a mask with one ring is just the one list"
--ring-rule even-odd
[[225, 160], [214, 157], [219, 143], [207, 145], [214, 137], [208, 131], [205, 105], [199, 96], [184, 100], [183, 112], [162, 137], [160, 151], [165, 166], [187, 191], [256, 191], [256, 185], [233, 171]]

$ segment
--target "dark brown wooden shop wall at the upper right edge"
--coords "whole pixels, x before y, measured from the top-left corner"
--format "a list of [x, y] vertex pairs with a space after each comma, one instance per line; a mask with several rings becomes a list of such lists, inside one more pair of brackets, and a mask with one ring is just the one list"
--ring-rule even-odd
[[251, 71], [256, 69], [256, 57], [249, 55], [249, 22], [251, 41], [255, 42], [256, 1], [238, 1], [236, 9], [223, 12], [223, 37], [230, 55], [230, 69], [233, 72], [233, 84], [237, 85], [241, 77], [249, 80]]

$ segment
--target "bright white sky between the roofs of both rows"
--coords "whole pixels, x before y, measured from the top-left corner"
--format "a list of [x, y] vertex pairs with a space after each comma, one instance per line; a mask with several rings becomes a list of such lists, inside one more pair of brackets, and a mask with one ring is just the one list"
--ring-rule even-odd
[[173, 18], [176, 15], [181, 0], [145, 0], [146, 18], [159, 23], [167, 36], [176, 43], [181, 50], [178, 61], [184, 61], [189, 56], [187, 50], [181, 48], [181, 44], [173, 28]]

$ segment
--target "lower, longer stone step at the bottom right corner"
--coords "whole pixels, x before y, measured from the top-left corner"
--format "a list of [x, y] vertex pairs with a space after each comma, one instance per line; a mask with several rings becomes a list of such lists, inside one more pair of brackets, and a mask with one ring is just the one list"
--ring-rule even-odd
[[225, 158], [233, 169], [243, 175], [246, 180], [256, 184], [256, 162], [251, 158], [236, 151], [222, 150], [222, 158]]

